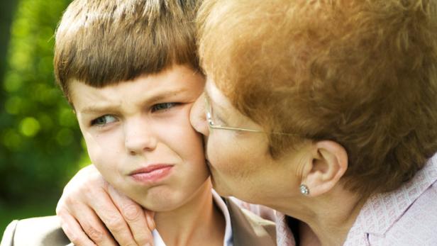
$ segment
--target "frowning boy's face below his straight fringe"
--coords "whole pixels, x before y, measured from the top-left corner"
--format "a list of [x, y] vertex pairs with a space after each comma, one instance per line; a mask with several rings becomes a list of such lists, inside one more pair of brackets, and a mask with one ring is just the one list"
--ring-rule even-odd
[[116, 189], [153, 211], [209, 189], [201, 135], [189, 122], [201, 74], [174, 66], [104, 88], [72, 81], [70, 89], [89, 157]]

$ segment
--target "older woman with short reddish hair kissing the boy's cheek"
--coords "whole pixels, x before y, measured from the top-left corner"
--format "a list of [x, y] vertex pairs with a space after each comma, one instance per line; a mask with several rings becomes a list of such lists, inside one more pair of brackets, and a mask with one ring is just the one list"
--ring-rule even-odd
[[192, 125], [216, 191], [280, 211], [278, 244], [436, 245], [436, 16], [431, 0], [205, 1]]

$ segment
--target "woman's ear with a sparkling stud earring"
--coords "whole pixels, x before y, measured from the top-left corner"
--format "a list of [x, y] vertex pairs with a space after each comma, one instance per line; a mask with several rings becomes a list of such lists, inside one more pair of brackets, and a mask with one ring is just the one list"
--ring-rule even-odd
[[348, 169], [348, 153], [337, 142], [323, 140], [315, 143], [311, 168], [306, 169], [302, 184], [309, 196], [319, 196], [333, 189]]

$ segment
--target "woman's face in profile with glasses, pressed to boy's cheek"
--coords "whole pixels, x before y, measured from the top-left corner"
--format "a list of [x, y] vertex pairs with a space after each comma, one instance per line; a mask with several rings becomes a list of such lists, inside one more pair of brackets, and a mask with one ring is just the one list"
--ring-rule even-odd
[[268, 151], [265, 133], [209, 128], [205, 105], [212, 109], [214, 123], [233, 128], [262, 130], [261, 126], [243, 116], [216, 87], [206, 82], [204, 96], [192, 108], [192, 125], [205, 135], [205, 151], [211, 169], [214, 189], [222, 196], [236, 196], [250, 203], [270, 205], [284, 194], [297, 191], [296, 170], [288, 162], [298, 161], [297, 153], [273, 160]]

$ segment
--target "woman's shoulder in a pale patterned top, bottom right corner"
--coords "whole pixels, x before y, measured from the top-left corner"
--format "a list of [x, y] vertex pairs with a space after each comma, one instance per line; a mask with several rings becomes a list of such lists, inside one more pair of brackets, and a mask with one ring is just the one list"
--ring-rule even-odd
[[345, 245], [437, 245], [437, 155], [396, 191], [375, 194]]

